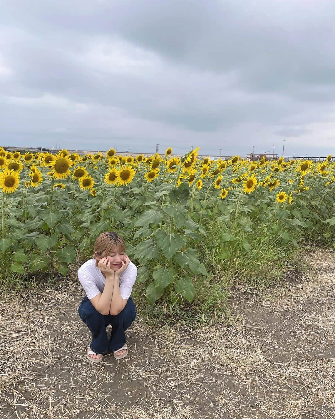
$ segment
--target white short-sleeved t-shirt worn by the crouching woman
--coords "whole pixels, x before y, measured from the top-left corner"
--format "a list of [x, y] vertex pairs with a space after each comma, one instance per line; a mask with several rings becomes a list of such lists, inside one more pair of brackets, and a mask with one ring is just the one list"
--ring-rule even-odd
[[[120, 294], [122, 298], [130, 297], [136, 277], [137, 267], [130, 262], [127, 269], [120, 275]], [[95, 259], [90, 259], [80, 266], [78, 278], [89, 299], [98, 295], [99, 292], [102, 293], [105, 288], [106, 278], [96, 266]]]

